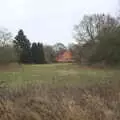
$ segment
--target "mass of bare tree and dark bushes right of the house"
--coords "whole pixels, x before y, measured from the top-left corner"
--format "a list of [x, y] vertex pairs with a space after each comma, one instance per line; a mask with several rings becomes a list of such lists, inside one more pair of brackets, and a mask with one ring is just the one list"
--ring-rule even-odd
[[120, 64], [120, 20], [105, 14], [85, 15], [74, 26], [76, 44], [72, 52], [77, 63], [85, 65]]

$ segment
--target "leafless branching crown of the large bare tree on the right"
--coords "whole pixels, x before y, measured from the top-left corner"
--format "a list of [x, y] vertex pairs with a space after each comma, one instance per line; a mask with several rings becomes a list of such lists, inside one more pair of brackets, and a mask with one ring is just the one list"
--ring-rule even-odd
[[83, 20], [74, 27], [74, 38], [80, 43], [95, 42], [98, 34], [103, 31], [103, 28], [113, 27], [117, 24], [118, 21], [110, 15], [85, 15]]

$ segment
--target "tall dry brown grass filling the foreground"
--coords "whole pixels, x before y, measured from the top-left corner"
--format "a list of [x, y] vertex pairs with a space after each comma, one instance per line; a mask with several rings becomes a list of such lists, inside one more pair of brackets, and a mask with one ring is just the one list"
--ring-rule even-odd
[[120, 120], [120, 88], [28, 85], [0, 95], [0, 120]]

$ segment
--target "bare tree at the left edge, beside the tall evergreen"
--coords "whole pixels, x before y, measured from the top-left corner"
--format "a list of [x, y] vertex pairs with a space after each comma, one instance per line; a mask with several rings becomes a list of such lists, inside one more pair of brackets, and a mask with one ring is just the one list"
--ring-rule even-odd
[[12, 45], [12, 34], [7, 29], [0, 29], [0, 64], [16, 61], [17, 57]]

